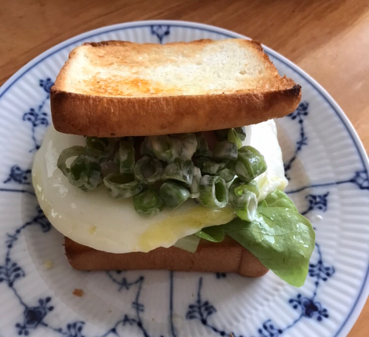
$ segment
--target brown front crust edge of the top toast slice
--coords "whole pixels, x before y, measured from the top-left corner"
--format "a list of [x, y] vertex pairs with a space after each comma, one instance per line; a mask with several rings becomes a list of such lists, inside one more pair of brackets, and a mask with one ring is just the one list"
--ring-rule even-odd
[[96, 137], [209, 131], [261, 123], [293, 112], [301, 87], [272, 92], [111, 97], [51, 89], [55, 129]]

